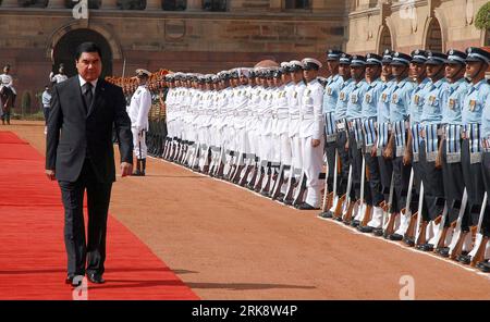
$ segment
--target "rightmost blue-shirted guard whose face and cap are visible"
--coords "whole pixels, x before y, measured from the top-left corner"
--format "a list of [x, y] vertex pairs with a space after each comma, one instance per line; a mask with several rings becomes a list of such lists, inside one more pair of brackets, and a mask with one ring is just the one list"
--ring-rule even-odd
[[[488, 153], [488, 110], [483, 108], [490, 99], [490, 86], [485, 79], [485, 72], [490, 63], [490, 54], [475, 47], [468, 48], [466, 53], [466, 76], [471, 79], [471, 83], [469, 84], [462, 111], [462, 120], [466, 129], [462, 144], [462, 166], [468, 195], [466, 206], [468, 211], [465, 211], [462, 218], [461, 234], [456, 234], [455, 240], [452, 242], [456, 247], [450, 249], [450, 257], [462, 263], [469, 264], [474, 259], [478, 260], [475, 251], [480, 247], [485, 249], [485, 245], [481, 245], [481, 237], [483, 235], [488, 237], [488, 213], [490, 212], [488, 195], [486, 198], [487, 202], [483, 200], [485, 193], [488, 191], [487, 186], [485, 186], [485, 179], [488, 178], [488, 156], [486, 156], [485, 162], [481, 162], [481, 152]], [[483, 111], [486, 112], [485, 114]], [[487, 224], [483, 225], [481, 223], [480, 226], [480, 228], [486, 227], [483, 234], [481, 234], [481, 230], [478, 230], [480, 215], [483, 215], [481, 220], [487, 218]], [[477, 236], [474, 236], [475, 233]], [[475, 245], [476, 247], [471, 247], [474, 237], [480, 237], [476, 238], [476, 242], [479, 242]]]

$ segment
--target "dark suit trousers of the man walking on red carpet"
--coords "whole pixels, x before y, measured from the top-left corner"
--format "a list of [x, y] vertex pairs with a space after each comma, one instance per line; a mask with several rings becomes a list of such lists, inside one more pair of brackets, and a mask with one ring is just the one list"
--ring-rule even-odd
[[[68, 273], [103, 274], [106, 261], [107, 216], [112, 183], [97, 182], [93, 164], [85, 159], [76, 182], [58, 182], [64, 207], [64, 245]], [[83, 213], [84, 193], [87, 191], [88, 233], [85, 240]], [[86, 268], [86, 269], [85, 269]]]

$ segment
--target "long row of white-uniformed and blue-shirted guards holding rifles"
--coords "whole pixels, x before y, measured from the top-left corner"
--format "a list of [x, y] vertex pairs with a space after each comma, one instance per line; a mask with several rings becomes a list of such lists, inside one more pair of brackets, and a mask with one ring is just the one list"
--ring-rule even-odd
[[489, 65], [480, 48], [329, 50], [327, 79], [315, 59], [168, 74], [161, 156], [488, 272]]

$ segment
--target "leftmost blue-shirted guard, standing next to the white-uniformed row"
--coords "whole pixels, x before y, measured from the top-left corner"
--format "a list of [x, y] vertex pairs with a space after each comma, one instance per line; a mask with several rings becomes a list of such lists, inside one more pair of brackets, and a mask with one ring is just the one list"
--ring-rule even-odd
[[[339, 200], [336, 191], [333, 190], [333, 187], [336, 188], [336, 183], [334, 183], [333, 181], [334, 178], [339, 177], [338, 175], [334, 175], [334, 172], [338, 171], [338, 168], [340, 165], [336, 161], [338, 157], [335, 153], [335, 107], [339, 99], [340, 88], [344, 83], [343, 77], [339, 75], [339, 62], [342, 54], [342, 51], [335, 49], [330, 49], [327, 52], [327, 67], [329, 70], [330, 76], [327, 78], [327, 84], [324, 85], [322, 113], [324, 119], [324, 149], [328, 166], [327, 185], [328, 187], [330, 187], [331, 193], [328, 196], [330, 202], [327, 202], [326, 211], [320, 213], [321, 218], [332, 218], [336, 207], [336, 202]], [[326, 191], [326, 194], [327, 193], [328, 191]]]

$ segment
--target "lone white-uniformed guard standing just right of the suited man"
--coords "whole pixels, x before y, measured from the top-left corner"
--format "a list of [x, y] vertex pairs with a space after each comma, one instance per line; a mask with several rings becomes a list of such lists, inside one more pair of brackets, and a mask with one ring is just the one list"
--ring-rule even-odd
[[148, 112], [151, 108], [151, 94], [146, 85], [150, 72], [136, 70], [138, 87], [131, 98], [128, 115], [133, 132], [134, 153], [137, 159], [136, 170], [133, 175], [145, 175], [146, 171], [146, 131], [148, 131]]

